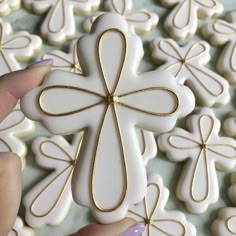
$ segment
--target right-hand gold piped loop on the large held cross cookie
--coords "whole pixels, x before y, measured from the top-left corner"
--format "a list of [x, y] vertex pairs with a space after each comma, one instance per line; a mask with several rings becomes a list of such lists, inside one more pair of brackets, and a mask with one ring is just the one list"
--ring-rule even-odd
[[178, 109], [179, 109], [179, 97], [178, 95], [171, 89], [169, 88], [165, 88], [165, 87], [151, 87], [151, 88], [145, 88], [145, 89], [140, 89], [140, 90], [137, 90], [137, 91], [132, 91], [132, 92], [129, 92], [129, 93], [125, 93], [125, 94], [122, 94], [119, 96], [119, 98], [122, 98], [122, 97], [125, 97], [125, 96], [129, 96], [129, 95], [133, 95], [133, 94], [136, 94], [136, 93], [140, 93], [140, 92], [144, 92], [144, 91], [152, 91], [152, 90], [163, 90], [163, 91], [168, 91], [169, 93], [172, 93], [172, 95], [175, 96], [176, 98], [176, 106], [174, 107], [174, 109], [172, 109], [173, 111], [169, 112], [169, 113], [160, 113], [160, 112], [149, 112], [148, 110], [144, 110], [144, 109], [139, 109], [138, 107], [134, 107], [134, 106], [131, 106], [131, 105], [128, 105], [122, 101], [119, 101], [119, 105], [122, 105], [122, 106], [125, 106], [127, 108], [130, 108], [130, 109], [133, 109], [135, 111], [139, 111], [139, 112], [143, 112], [143, 113], [146, 113], [146, 114], [149, 114], [149, 115], [155, 115], [155, 116], [169, 116], [169, 115], [173, 115]]

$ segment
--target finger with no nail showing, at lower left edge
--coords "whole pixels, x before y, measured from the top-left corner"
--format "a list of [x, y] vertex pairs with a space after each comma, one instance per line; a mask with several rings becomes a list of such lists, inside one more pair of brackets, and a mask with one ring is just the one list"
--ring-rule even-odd
[[13, 153], [0, 153], [0, 193], [0, 235], [7, 235], [21, 200], [21, 161]]

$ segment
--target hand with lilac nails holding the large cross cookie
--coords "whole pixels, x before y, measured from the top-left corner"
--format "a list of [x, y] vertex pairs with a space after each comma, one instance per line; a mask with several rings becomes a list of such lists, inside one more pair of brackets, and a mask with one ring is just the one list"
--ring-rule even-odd
[[[51, 60], [34, 63], [25, 70], [0, 77], [0, 122], [12, 111], [18, 99], [39, 86], [51, 69]], [[12, 229], [21, 200], [21, 163], [13, 153], [0, 152], [0, 236]], [[124, 219], [111, 225], [91, 224], [71, 236], [139, 236], [143, 224]]]

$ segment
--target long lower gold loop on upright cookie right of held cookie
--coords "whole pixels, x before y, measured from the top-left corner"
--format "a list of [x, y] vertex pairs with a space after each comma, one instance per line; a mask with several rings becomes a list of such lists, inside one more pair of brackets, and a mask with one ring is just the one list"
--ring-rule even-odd
[[[202, 199], [197, 199], [195, 196], [194, 196], [194, 189], [195, 189], [195, 184], [197, 181], [195, 181], [195, 178], [196, 178], [196, 172], [197, 172], [197, 169], [199, 168], [199, 162], [200, 160], [203, 158], [202, 154], [205, 154], [204, 155], [204, 162], [205, 162], [205, 167], [206, 167], [206, 178], [207, 178], [207, 181], [206, 181], [206, 184], [207, 184], [207, 193], [205, 194], [204, 198]], [[202, 169], [201, 169], [202, 170]], [[197, 184], [199, 185], [199, 183]], [[200, 152], [199, 152], [199, 156], [197, 158], [197, 162], [196, 162], [196, 165], [194, 167], [194, 173], [193, 173], [193, 176], [192, 176], [192, 181], [191, 181], [191, 198], [195, 201], [195, 202], [204, 202], [208, 196], [209, 196], [209, 190], [210, 190], [210, 181], [209, 181], [209, 166], [208, 166], [208, 156], [207, 156], [207, 150], [204, 148], [204, 149], [201, 149]]]

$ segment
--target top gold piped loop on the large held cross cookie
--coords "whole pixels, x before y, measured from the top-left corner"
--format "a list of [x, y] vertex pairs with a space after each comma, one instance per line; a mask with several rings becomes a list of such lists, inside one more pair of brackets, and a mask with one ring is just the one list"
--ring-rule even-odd
[[[122, 55], [122, 58], [121, 58], [121, 60], [122, 60], [121, 63], [122, 63], [122, 64], [120, 64], [120, 68], [119, 68], [119, 70], [118, 70], [117, 77], [115, 78], [116, 81], [115, 81], [115, 84], [114, 84], [114, 88], [112, 89], [111, 92], [109, 91], [109, 87], [108, 87], [108, 84], [107, 84], [107, 79], [105, 78], [105, 73], [104, 73], [104, 69], [103, 69], [103, 66], [102, 66], [103, 64], [102, 64], [102, 58], [101, 58], [102, 53], [101, 53], [101, 49], [100, 49], [103, 36], [105, 36], [107, 33], [110, 33], [110, 32], [116, 32], [116, 33], [120, 34], [121, 37], [122, 37], [122, 44], [124, 44], [124, 47], [125, 47], [125, 51], [124, 51], [124, 53], [123, 53], [123, 55]], [[100, 68], [101, 73], [102, 73], [102, 74], [101, 74], [101, 75], [102, 75], [101, 78], [102, 78], [103, 84], [104, 84], [104, 86], [105, 86], [105, 88], [106, 88], [106, 90], [107, 90], [107, 94], [108, 94], [108, 95], [111, 95], [111, 94], [114, 94], [115, 91], [116, 91], [116, 88], [117, 88], [117, 86], [118, 86], [118, 83], [119, 83], [119, 80], [120, 80], [120, 77], [121, 77], [121, 74], [122, 74], [122, 70], [123, 70], [123, 67], [124, 67], [124, 63], [125, 63], [125, 60], [126, 60], [126, 54], [127, 54], [127, 42], [126, 42], [126, 37], [125, 37], [125, 35], [123, 34], [123, 32], [121, 32], [121, 31], [118, 30], [118, 29], [108, 29], [108, 30], [104, 31], [104, 32], [101, 34], [100, 38], [98, 39], [98, 45], [97, 45], [97, 47], [98, 47], [98, 58], [97, 58], [97, 60], [98, 60], [98, 63], [99, 63], [99, 68]]]

